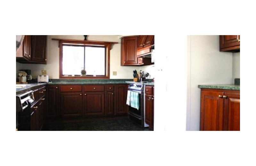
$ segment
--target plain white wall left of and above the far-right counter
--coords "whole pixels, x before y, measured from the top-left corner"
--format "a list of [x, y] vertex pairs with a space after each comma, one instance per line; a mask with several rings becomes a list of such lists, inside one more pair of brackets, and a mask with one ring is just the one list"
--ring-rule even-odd
[[200, 129], [202, 84], [232, 84], [232, 53], [220, 52], [219, 35], [191, 35], [190, 117], [187, 130]]

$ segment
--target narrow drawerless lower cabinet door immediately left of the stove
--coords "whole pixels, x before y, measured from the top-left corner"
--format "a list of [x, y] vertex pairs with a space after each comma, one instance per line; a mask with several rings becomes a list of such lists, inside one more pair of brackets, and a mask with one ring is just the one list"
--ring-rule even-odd
[[126, 100], [127, 100], [127, 85], [117, 85], [116, 86], [116, 114], [125, 114], [127, 110]]

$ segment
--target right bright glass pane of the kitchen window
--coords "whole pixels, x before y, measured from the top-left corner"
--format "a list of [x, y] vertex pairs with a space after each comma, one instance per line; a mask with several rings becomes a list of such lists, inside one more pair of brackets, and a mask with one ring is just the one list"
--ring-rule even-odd
[[105, 75], [105, 48], [85, 47], [86, 75]]

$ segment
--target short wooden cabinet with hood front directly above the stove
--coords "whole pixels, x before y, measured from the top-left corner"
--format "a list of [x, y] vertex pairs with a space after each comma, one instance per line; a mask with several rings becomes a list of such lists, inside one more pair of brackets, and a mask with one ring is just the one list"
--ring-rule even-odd
[[137, 57], [144, 57], [151, 54], [151, 46], [155, 43], [155, 35], [140, 35]]

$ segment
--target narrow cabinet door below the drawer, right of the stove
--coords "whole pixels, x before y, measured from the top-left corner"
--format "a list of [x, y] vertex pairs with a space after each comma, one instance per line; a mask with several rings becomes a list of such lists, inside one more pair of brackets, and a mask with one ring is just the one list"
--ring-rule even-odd
[[150, 127], [153, 125], [153, 96], [145, 95], [145, 122]]

